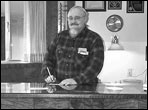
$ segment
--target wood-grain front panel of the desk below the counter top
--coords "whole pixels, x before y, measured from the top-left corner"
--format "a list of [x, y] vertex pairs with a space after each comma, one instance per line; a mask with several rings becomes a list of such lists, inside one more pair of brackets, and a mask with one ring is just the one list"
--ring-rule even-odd
[[[139, 104], [138, 104], [139, 102]], [[1, 98], [1, 109], [147, 109], [147, 100], [98, 98]]]

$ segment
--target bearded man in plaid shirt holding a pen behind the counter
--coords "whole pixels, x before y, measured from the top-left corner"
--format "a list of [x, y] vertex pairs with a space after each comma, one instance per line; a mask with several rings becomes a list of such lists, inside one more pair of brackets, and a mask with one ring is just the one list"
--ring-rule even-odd
[[104, 62], [103, 39], [87, 28], [88, 13], [74, 6], [68, 13], [69, 29], [60, 32], [47, 49], [41, 74], [47, 83], [97, 83]]

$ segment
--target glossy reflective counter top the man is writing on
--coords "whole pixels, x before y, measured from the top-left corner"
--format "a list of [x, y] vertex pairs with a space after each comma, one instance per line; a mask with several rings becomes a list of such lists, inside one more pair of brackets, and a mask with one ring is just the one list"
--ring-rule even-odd
[[59, 86], [45, 83], [1, 83], [1, 98], [110, 98], [147, 99], [142, 84], [98, 83], [89, 85]]

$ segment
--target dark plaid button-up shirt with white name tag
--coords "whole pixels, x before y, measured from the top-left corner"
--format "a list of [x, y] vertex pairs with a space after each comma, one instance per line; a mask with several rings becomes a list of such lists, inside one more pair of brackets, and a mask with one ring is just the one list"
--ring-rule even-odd
[[58, 81], [73, 78], [78, 84], [97, 82], [104, 62], [103, 43], [87, 27], [75, 38], [70, 37], [68, 30], [62, 31], [48, 47], [42, 70], [48, 66]]

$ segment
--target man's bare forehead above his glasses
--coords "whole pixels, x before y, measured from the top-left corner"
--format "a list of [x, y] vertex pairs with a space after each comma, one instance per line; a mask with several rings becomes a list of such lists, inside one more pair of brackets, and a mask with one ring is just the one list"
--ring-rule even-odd
[[73, 8], [69, 11], [68, 16], [84, 16], [85, 13], [79, 8]]

